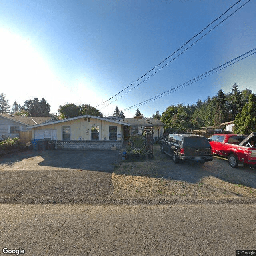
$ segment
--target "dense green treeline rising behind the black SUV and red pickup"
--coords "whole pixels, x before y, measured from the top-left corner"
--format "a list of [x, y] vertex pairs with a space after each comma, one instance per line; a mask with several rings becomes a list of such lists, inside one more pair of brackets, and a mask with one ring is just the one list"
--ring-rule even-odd
[[[249, 104], [250, 95], [252, 96], [251, 103]], [[181, 103], [176, 106], [169, 106], [159, 118], [166, 124], [167, 129], [186, 131], [188, 129], [196, 130], [200, 127], [208, 126], [220, 128], [221, 123], [238, 120], [238, 118], [244, 115], [243, 113], [246, 112], [244, 110], [245, 106], [247, 106], [248, 114], [248, 106], [252, 110], [254, 104], [256, 104], [254, 98], [255, 94], [252, 93], [252, 90], [245, 89], [240, 91], [238, 85], [234, 84], [231, 91], [227, 94], [220, 89], [216, 96], [212, 98], [208, 96], [203, 102], [199, 99], [192, 105], [183, 106]], [[156, 114], [159, 113], [156, 112]], [[254, 113], [251, 114], [249, 117], [250, 121], [247, 120], [247, 123], [253, 122], [253, 118], [256, 118], [256, 113], [253, 115]], [[244, 130], [239, 130], [237, 121], [235, 122], [235, 126], [238, 133], [243, 133]], [[241, 122], [239, 126], [241, 126]], [[246, 133], [248, 133], [248, 129]]]

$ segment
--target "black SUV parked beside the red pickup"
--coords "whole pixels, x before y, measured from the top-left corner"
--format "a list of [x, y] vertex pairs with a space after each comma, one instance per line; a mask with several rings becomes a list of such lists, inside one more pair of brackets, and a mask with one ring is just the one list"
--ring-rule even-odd
[[212, 148], [204, 136], [195, 134], [169, 134], [161, 141], [161, 152], [179, 160], [193, 160], [205, 163], [212, 161]]

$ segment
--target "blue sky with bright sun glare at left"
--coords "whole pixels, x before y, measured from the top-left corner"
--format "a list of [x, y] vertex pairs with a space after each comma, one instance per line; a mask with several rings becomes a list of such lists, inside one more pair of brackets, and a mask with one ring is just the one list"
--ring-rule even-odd
[[[22, 105], [27, 99], [43, 97], [52, 113], [67, 102], [97, 106], [159, 64], [235, 2], [2, 0], [0, 93], [10, 105], [14, 100]], [[245, 2], [241, 0], [226, 16]], [[97, 108], [102, 108], [104, 116], [111, 115], [116, 106], [120, 110], [133, 106], [255, 48], [255, 10], [256, 1], [251, 0], [154, 76], [109, 106], [117, 97]], [[255, 70], [256, 54], [138, 108], [150, 117], [172, 104], [193, 104], [215, 96], [221, 88], [230, 92], [234, 83], [240, 90], [256, 92]], [[132, 118], [136, 108], [124, 111], [126, 118]]]

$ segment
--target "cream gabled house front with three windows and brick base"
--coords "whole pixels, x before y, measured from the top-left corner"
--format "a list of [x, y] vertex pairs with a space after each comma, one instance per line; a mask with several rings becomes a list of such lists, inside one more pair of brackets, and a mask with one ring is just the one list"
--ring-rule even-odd
[[57, 149], [121, 149], [126, 122], [98, 116], [76, 116], [32, 125], [32, 138], [56, 140]]

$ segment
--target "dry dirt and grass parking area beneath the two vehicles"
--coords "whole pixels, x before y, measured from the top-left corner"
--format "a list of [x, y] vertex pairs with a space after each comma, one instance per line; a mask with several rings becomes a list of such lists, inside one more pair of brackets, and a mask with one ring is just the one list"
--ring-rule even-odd
[[256, 170], [231, 168], [224, 159], [174, 164], [154, 146], [154, 159], [121, 162], [112, 174], [114, 194], [142, 198], [256, 198]]

